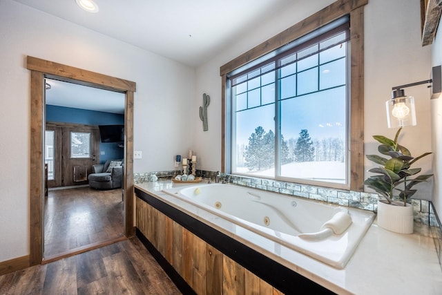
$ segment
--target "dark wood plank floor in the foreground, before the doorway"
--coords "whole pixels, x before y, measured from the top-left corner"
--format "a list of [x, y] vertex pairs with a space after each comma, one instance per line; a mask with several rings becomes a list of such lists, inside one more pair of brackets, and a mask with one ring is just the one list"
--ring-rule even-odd
[[0, 294], [181, 294], [134, 237], [0, 276]]

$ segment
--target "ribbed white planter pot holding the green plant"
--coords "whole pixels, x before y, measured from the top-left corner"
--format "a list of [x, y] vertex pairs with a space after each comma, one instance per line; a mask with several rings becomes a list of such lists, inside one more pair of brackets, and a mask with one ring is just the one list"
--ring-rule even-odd
[[398, 234], [413, 234], [413, 206], [395, 206], [378, 200], [378, 226]]

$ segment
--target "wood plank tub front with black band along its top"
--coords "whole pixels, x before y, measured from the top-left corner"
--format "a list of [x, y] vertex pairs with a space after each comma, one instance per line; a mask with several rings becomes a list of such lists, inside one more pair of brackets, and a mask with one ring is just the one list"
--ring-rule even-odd
[[135, 187], [137, 236], [184, 293], [334, 294]]

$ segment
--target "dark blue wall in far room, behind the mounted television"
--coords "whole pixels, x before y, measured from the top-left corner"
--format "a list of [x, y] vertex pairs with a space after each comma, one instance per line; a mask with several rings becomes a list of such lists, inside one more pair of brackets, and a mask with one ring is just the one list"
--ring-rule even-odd
[[[88, 111], [80, 108], [65, 108], [64, 106], [46, 105], [46, 122], [64, 122], [87, 125], [124, 124], [124, 115]], [[124, 158], [124, 149], [116, 142], [99, 144], [99, 162]], [[104, 151], [104, 155], [101, 153]]]

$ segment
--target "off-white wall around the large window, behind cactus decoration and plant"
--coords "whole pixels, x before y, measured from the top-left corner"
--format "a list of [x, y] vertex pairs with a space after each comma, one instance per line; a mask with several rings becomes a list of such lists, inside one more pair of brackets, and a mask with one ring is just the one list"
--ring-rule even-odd
[[[204, 168], [219, 170], [221, 146], [221, 79], [220, 66], [241, 55], [269, 37], [298, 23], [333, 1], [294, 1], [291, 9], [268, 19], [235, 44], [229, 44], [211, 61], [197, 68], [196, 101], [203, 92], [211, 94], [209, 131], [195, 129], [195, 143], [204, 159]], [[369, 0], [365, 6], [365, 153], [377, 153], [372, 135], [394, 137], [396, 130], [387, 129], [385, 101], [393, 86], [430, 78], [430, 47], [421, 47], [419, 1]], [[402, 131], [401, 144], [413, 155], [431, 151], [430, 91], [425, 86], [407, 88], [407, 95], [416, 97], [418, 125]], [[200, 126], [198, 126], [200, 127]], [[219, 155], [213, 157], [214, 155]], [[421, 160], [423, 171], [430, 171], [431, 158]], [[365, 160], [366, 170], [372, 165]], [[365, 178], [368, 176], [365, 175]], [[431, 200], [432, 185], [423, 184], [418, 198]]]

